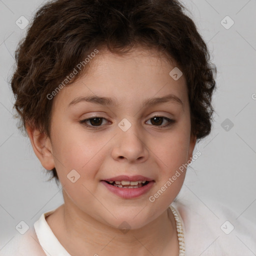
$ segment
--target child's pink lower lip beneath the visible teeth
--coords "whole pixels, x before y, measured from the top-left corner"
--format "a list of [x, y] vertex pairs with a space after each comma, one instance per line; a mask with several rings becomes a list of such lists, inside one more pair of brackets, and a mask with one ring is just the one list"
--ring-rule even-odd
[[103, 180], [101, 180], [100, 182], [102, 182], [106, 186], [106, 188], [109, 189], [111, 192], [125, 199], [135, 198], [142, 194], [145, 194], [152, 187], [154, 183], [154, 181], [149, 181], [146, 185], [141, 187], [122, 188], [122, 187], [110, 185]]

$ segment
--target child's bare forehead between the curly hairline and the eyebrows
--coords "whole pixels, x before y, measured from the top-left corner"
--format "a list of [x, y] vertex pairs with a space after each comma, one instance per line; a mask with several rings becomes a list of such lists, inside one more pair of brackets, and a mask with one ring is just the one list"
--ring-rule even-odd
[[[115, 54], [106, 49], [90, 60], [89, 67], [74, 83], [56, 95], [66, 105], [78, 96], [112, 97], [115, 103], [145, 101], [172, 93], [186, 101], [186, 81], [170, 76], [175, 61], [155, 49], [134, 48]], [[118, 102], [117, 102], [118, 101]], [[116, 105], [117, 105], [116, 104]]]

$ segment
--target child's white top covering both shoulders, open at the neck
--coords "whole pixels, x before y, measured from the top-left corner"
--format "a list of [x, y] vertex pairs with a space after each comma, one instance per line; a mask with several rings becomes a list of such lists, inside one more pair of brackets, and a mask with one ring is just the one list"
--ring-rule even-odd
[[[211, 200], [190, 202], [181, 198], [171, 206], [172, 212], [178, 215], [184, 236], [185, 253], [179, 255], [256, 255], [256, 223], [243, 215]], [[70, 256], [45, 220], [55, 209], [42, 213], [25, 234], [17, 233], [0, 250], [0, 256]], [[6, 238], [6, 242], [8, 240]]]

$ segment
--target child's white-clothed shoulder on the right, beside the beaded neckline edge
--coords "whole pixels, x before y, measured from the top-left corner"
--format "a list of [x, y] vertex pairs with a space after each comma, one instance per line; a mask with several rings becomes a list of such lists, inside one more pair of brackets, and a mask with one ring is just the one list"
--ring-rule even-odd
[[210, 198], [174, 200], [187, 255], [255, 255], [256, 223]]

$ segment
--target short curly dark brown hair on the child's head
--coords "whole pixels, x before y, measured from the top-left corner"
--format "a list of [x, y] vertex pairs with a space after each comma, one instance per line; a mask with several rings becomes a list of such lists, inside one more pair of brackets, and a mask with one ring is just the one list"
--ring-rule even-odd
[[[41, 6], [15, 51], [11, 77], [14, 106], [23, 130], [33, 125], [50, 137], [52, 101], [47, 95], [95, 48], [124, 54], [156, 48], [173, 58], [186, 78], [191, 133], [210, 133], [216, 67], [206, 43], [178, 0], [54, 0]], [[83, 65], [71, 84], [88, 65]], [[26, 128], [25, 128], [26, 130]], [[56, 169], [50, 170], [58, 180]]]

